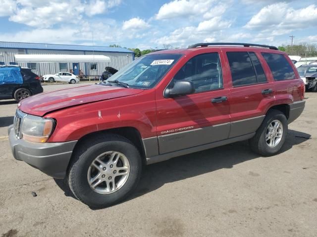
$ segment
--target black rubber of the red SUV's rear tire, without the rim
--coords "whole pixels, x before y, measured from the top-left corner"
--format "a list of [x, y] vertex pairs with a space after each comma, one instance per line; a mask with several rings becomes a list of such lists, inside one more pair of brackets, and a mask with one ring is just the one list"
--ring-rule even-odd
[[[282, 137], [279, 141], [279, 143], [275, 147], [269, 147], [269, 145], [266, 143], [265, 135], [266, 135], [266, 129], [269, 126], [269, 124], [273, 120], [279, 120], [282, 123], [283, 126], [283, 132]], [[251, 147], [251, 150], [255, 153], [258, 153], [262, 156], [273, 156], [276, 153], [279, 152], [279, 150], [282, 148], [286, 135], [288, 130], [288, 123], [287, 118], [285, 115], [280, 112], [279, 110], [269, 110], [264, 118], [264, 121], [262, 122], [261, 126], [256, 132], [256, 135], [249, 139], [249, 145]]]

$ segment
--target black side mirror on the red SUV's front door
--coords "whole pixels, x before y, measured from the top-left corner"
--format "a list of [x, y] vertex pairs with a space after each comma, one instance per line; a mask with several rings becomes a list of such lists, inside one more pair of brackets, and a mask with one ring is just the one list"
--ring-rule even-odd
[[188, 80], [176, 80], [173, 88], [166, 88], [165, 98], [172, 98], [180, 95], [188, 95], [195, 92], [194, 83]]

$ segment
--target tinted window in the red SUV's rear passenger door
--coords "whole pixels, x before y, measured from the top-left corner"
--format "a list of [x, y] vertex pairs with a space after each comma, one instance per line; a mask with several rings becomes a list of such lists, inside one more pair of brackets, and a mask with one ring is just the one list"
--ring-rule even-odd
[[253, 52], [227, 52], [233, 86], [265, 82], [257, 55]]

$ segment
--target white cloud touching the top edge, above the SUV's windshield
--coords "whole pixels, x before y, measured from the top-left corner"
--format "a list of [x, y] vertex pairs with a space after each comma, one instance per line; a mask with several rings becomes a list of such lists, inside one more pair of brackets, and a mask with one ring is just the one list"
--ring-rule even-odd
[[173, 0], [163, 4], [156, 14], [157, 20], [175, 17], [188, 17], [202, 14], [211, 7], [215, 0]]

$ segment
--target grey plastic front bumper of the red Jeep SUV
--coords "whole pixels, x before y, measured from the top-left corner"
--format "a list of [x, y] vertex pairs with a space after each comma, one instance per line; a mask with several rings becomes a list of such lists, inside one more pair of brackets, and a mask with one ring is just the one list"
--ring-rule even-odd
[[8, 127], [13, 157], [23, 160], [53, 178], [63, 179], [77, 141], [58, 143], [32, 143], [17, 139], [13, 125]]

